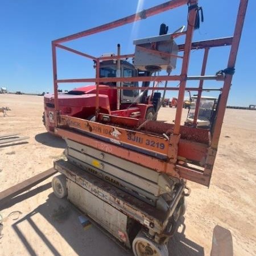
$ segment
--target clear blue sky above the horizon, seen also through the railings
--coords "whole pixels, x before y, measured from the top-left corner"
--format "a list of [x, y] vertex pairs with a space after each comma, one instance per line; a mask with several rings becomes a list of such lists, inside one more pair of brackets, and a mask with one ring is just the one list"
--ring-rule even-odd
[[[51, 41], [134, 14], [166, 1], [121, 0], [1, 0], [0, 1], [0, 86], [10, 91], [52, 92]], [[193, 41], [233, 35], [238, 0], [199, 1], [203, 6], [205, 22], [195, 31]], [[250, 0], [247, 8], [236, 73], [233, 77], [229, 105], [256, 104], [256, 1]], [[133, 40], [158, 35], [161, 23], [175, 31], [187, 20], [187, 6], [152, 16], [142, 22], [129, 24], [115, 30], [102, 32], [88, 38], [68, 42], [70, 46], [94, 56], [116, 52], [133, 53]], [[181, 43], [182, 38], [177, 43]], [[207, 75], [214, 75], [226, 67], [229, 47], [210, 49]], [[188, 75], [200, 75], [203, 51], [193, 51]], [[93, 77], [92, 62], [63, 50], [58, 51], [59, 78]], [[177, 64], [179, 67], [179, 63]], [[178, 68], [174, 74], [179, 73]], [[170, 84], [175, 86], [177, 84]], [[72, 89], [81, 84], [61, 85]], [[189, 85], [197, 85], [190, 82]], [[208, 81], [208, 87], [219, 87]], [[167, 96], [175, 96], [174, 92]]]

